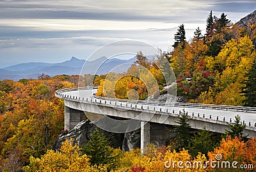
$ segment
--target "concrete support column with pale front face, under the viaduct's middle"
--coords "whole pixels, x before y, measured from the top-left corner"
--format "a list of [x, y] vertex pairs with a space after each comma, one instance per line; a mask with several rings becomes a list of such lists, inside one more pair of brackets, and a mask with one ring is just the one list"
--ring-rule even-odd
[[161, 123], [150, 123], [141, 121], [141, 153], [149, 143], [154, 143], [156, 146], [166, 145], [166, 127]]

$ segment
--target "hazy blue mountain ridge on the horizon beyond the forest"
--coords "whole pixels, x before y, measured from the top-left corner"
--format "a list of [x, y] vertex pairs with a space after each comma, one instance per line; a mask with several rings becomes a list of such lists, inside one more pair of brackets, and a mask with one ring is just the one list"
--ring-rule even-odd
[[[136, 57], [131, 59], [107, 59], [102, 56], [101, 58], [93, 61], [86, 61], [84, 59], [77, 59], [72, 57], [70, 60], [63, 61], [61, 63], [20, 63], [17, 65], [8, 66], [0, 69], [0, 80], [12, 79], [13, 81], [19, 81], [19, 79], [36, 79], [40, 74], [44, 73], [50, 76], [55, 75], [79, 75], [84, 63], [86, 63], [86, 69], [83, 70], [86, 74], [92, 74], [92, 71], [97, 70], [97, 74], [107, 74], [111, 69], [124, 63], [133, 63], [136, 61]], [[125, 72], [130, 65], [122, 68], [118, 72]]]

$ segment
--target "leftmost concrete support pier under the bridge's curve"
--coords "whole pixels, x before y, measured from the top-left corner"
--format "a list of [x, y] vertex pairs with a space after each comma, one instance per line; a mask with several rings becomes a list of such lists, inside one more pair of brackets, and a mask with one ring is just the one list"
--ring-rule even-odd
[[65, 106], [65, 130], [72, 130], [84, 120], [84, 112]]

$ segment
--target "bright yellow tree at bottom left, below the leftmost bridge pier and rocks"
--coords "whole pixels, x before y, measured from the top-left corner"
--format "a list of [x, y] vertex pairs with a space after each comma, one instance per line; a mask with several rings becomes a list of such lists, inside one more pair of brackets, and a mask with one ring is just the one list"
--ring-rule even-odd
[[48, 150], [41, 159], [30, 157], [29, 166], [23, 169], [25, 172], [91, 172], [107, 171], [104, 166], [91, 166], [86, 155], [80, 155], [80, 148], [73, 145], [72, 139], [66, 140], [62, 145], [60, 152]]

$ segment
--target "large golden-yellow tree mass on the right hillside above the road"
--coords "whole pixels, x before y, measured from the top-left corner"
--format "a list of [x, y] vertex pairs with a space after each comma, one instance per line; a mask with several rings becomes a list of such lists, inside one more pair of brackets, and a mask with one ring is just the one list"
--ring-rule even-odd
[[245, 97], [241, 91], [254, 58], [255, 50], [248, 36], [230, 40], [218, 56], [207, 58], [207, 68], [216, 75], [214, 89], [209, 93], [215, 104], [243, 106]]

